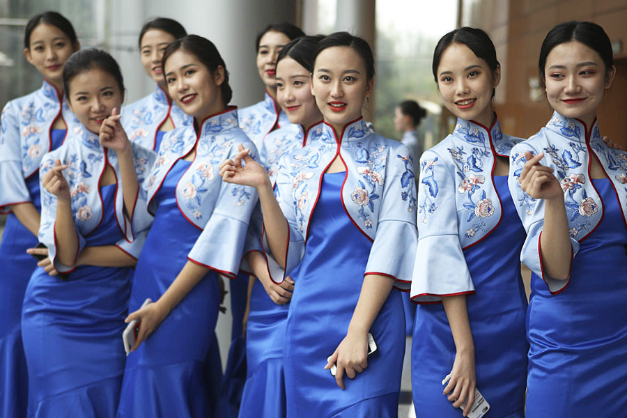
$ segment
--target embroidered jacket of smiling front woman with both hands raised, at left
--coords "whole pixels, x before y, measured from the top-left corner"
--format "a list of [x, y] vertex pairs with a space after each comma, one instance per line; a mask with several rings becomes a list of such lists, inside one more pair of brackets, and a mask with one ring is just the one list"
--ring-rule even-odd
[[[155, 153], [146, 150], [137, 144], [132, 144], [135, 173], [139, 182], [146, 178], [148, 170], [155, 161]], [[68, 164], [70, 167], [63, 170], [63, 177], [70, 186], [70, 196], [72, 199], [72, 213], [79, 240], [77, 256], [85, 247], [84, 236], [88, 235], [102, 221], [102, 196], [100, 195], [100, 178], [107, 168], [107, 164], [114, 170], [116, 176], [116, 221], [123, 235], [123, 239], [117, 243], [117, 247], [125, 251], [130, 256], [137, 258], [144, 245], [145, 234], [134, 235], [130, 222], [124, 215], [123, 195], [120, 167], [118, 156], [114, 150], [103, 148], [98, 142], [98, 135], [86, 130], [86, 128], [75, 119], [75, 124], [62, 146], [47, 153], [40, 167], [40, 176], [43, 177], [52, 167], [54, 161], [59, 158], [61, 164]], [[54, 261], [54, 266], [59, 272], [71, 272], [74, 266], [62, 265], [56, 261], [56, 236], [54, 233], [54, 222], [56, 218], [57, 198], [49, 193], [45, 187], [41, 186], [41, 225], [39, 229], [39, 241], [48, 247], [48, 254]], [[133, 219], [141, 217], [140, 210], [146, 206], [145, 194], [138, 192], [133, 210]]]

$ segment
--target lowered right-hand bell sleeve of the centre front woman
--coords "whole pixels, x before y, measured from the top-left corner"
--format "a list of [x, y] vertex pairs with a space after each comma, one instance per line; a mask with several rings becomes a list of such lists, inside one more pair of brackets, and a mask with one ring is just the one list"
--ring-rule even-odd
[[394, 287], [406, 292], [418, 244], [415, 183], [412, 155], [399, 144], [387, 157], [377, 230], [364, 273], [391, 277]]

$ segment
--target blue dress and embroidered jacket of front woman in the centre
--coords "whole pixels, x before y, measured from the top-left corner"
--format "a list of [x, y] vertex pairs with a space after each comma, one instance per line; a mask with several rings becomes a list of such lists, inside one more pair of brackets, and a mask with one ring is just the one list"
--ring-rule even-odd
[[[373, 322], [378, 350], [363, 373], [344, 378], [342, 390], [324, 366], [348, 332], [365, 275], [408, 288], [417, 245], [412, 156], [369, 132], [362, 118], [339, 137], [316, 125], [307, 141], [281, 160], [277, 175], [289, 227], [279, 256], [295, 281], [284, 343], [287, 416], [396, 417], [405, 351], [400, 293], [389, 293]], [[346, 171], [325, 174], [336, 157]]]

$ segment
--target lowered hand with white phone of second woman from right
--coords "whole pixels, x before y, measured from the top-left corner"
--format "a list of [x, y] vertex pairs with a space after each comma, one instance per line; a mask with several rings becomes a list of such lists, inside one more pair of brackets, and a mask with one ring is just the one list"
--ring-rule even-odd
[[[474, 374], [474, 353], [459, 351], [455, 355], [453, 363], [453, 371], [451, 371], [451, 379], [444, 391], [443, 395], [449, 394], [447, 397], [453, 403], [455, 408], [460, 408], [464, 403], [463, 416], [467, 417], [472, 403], [474, 403], [474, 387], [477, 380]], [[452, 393], [450, 393], [453, 391]]]

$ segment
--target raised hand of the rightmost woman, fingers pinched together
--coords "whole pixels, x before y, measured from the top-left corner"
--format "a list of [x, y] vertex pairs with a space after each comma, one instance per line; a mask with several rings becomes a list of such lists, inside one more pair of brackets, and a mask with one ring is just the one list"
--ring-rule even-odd
[[564, 199], [562, 186], [559, 180], [553, 175], [553, 169], [540, 164], [540, 160], [544, 157], [544, 153], [540, 153], [535, 157], [529, 151], [525, 151], [527, 162], [522, 167], [518, 183], [522, 191], [532, 196], [534, 199], [552, 200]]

